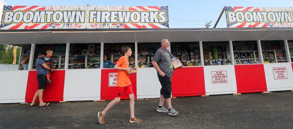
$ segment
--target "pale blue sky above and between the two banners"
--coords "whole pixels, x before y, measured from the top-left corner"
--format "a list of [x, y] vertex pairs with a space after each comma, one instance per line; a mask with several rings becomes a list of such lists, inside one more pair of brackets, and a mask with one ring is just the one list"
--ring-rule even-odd
[[[205, 28], [212, 21], [212, 28], [224, 6], [241, 7], [292, 7], [293, 0], [0, 0], [3, 5], [115, 5], [115, 6], [166, 6], [169, 7], [170, 28]], [[2, 9], [0, 14], [2, 14]], [[223, 15], [217, 28], [226, 28], [226, 16]]]

